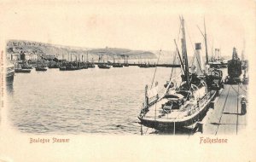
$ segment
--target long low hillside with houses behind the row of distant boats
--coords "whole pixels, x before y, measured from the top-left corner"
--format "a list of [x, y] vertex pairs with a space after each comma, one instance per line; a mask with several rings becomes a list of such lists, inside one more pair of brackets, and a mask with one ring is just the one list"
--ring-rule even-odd
[[24, 40], [9, 40], [7, 43], [7, 51], [8, 54], [19, 53], [19, 51], [26, 51], [35, 55], [55, 55], [61, 59], [64, 57], [67, 59], [68, 55], [74, 55], [74, 57], [78, 57], [78, 55], [88, 55], [90, 59], [97, 60], [99, 55], [108, 55], [113, 57], [119, 57], [120, 59], [125, 58], [125, 55], [129, 57], [129, 59], [155, 59], [156, 56], [154, 53], [145, 50], [131, 50], [131, 49], [119, 49], [119, 48], [108, 48], [105, 49], [91, 49], [91, 48], [82, 48], [82, 47], [69, 47], [69, 46], [61, 46], [49, 43], [39, 43], [32, 41], [24, 41]]

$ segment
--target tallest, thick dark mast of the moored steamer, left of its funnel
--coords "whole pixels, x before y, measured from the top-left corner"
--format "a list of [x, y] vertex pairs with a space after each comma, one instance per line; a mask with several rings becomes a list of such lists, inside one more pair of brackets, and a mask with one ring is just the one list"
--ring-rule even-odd
[[183, 52], [183, 63], [184, 63], [184, 79], [186, 81], [187, 87], [189, 87], [189, 63], [188, 63], [188, 55], [187, 55], [187, 45], [186, 45], [186, 35], [185, 35], [185, 26], [184, 26], [184, 19], [183, 16], [180, 17], [183, 38], [182, 42], [182, 52]]

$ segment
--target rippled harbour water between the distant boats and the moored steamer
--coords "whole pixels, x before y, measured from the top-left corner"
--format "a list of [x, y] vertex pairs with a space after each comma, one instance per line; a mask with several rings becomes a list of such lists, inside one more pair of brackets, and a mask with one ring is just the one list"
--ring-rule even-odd
[[[16, 73], [8, 88], [15, 129], [47, 134], [140, 134], [137, 115], [155, 68], [123, 67]], [[158, 67], [159, 89], [172, 68]]]

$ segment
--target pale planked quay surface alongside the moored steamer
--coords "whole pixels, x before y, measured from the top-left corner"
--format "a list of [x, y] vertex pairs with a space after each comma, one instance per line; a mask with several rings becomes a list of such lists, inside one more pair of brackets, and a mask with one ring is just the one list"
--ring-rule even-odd
[[247, 124], [247, 114], [241, 114], [241, 95], [247, 94], [247, 85], [225, 84], [203, 119], [203, 134], [227, 135], [239, 134]]

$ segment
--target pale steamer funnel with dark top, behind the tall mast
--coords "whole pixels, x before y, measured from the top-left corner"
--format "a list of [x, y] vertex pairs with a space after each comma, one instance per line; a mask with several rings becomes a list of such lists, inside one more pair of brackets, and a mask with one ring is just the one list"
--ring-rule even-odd
[[202, 64], [202, 56], [201, 56], [201, 43], [195, 43], [195, 67], [197, 75], [203, 74], [204, 66]]

